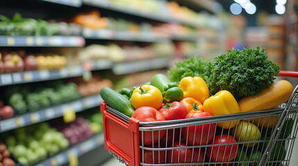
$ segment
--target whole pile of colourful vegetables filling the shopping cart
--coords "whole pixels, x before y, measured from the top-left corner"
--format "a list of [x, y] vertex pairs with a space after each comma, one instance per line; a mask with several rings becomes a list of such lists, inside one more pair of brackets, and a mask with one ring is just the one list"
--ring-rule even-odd
[[[286, 80], [274, 82], [279, 75], [279, 65], [271, 62], [260, 48], [228, 50], [213, 62], [191, 57], [177, 62], [176, 68], [171, 68], [168, 75], [157, 74], [149, 84], [123, 88], [119, 92], [104, 87], [100, 95], [109, 106], [128, 117], [141, 122], [155, 122], [273, 109], [286, 102], [293, 91], [292, 84]], [[147, 147], [186, 148], [161, 150], [157, 154], [157, 151], [141, 151], [146, 153], [141, 162], [255, 160], [239, 164], [254, 166], [268, 143], [264, 140], [270, 138], [268, 130], [273, 129], [278, 120], [279, 116], [268, 116], [182, 127], [178, 132], [175, 129], [143, 131], [140, 142]], [[288, 138], [292, 124], [292, 118], [288, 118], [281, 139]], [[258, 142], [260, 140], [263, 142]], [[191, 145], [210, 146], [204, 150], [187, 148]], [[282, 153], [272, 153], [270, 159], [283, 160], [286, 156], [284, 142], [278, 141], [275, 146], [274, 149]]]

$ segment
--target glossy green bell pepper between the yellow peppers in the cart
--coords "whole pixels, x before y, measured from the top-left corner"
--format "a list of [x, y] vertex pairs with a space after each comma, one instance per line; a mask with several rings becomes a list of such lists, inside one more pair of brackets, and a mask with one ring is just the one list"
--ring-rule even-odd
[[174, 82], [170, 82], [164, 86], [164, 92], [162, 93], [162, 96], [164, 103], [180, 101], [184, 97], [182, 89], [180, 89], [178, 84]]

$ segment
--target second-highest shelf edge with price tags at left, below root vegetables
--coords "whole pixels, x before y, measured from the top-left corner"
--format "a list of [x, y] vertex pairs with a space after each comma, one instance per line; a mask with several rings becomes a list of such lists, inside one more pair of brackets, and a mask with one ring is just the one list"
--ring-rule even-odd
[[[86, 62], [85, 64], [87, 64]], [[19, 73], [6, 73], [0, 75], [0, 86], [12, 84], [24, 84], [28, 82], [40, 82], [46, 80], [57, 80], [68, 77], [81, 76], [85, 71], [85, 64], [82, 66], [69, 66], [58, 70], [23, 71]], [[96, 71], [112, 67], [112, 61], [107, 59], [94, 60], [89, 62], [88, 70]]]

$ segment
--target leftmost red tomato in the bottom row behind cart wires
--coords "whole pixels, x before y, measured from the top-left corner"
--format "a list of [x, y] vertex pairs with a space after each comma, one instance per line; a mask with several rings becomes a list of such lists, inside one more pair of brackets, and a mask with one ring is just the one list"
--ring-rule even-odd
[[[150, 146], [152, 147], [152, 146]], [[158, 147], [155, 145], [154, 147]], [[142, 155], [144, 154], [144, 155]], [[166, 163], [166, 150], [146, 150], [141, 149], [141, 158], [142, 163], [146, 164], [165, 164]]]

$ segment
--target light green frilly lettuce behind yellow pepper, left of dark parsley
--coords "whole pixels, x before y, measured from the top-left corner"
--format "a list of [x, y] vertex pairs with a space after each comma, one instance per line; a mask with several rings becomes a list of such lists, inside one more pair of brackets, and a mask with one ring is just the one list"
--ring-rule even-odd
[[211, 62], [198, 57], [189, 57], [182, 62], [175, 62], [176, 67], [168, 70], [168, 77], [172, 82], [180, 82], [183, 77], [199, 76], [209, 85], [211, 75]]

